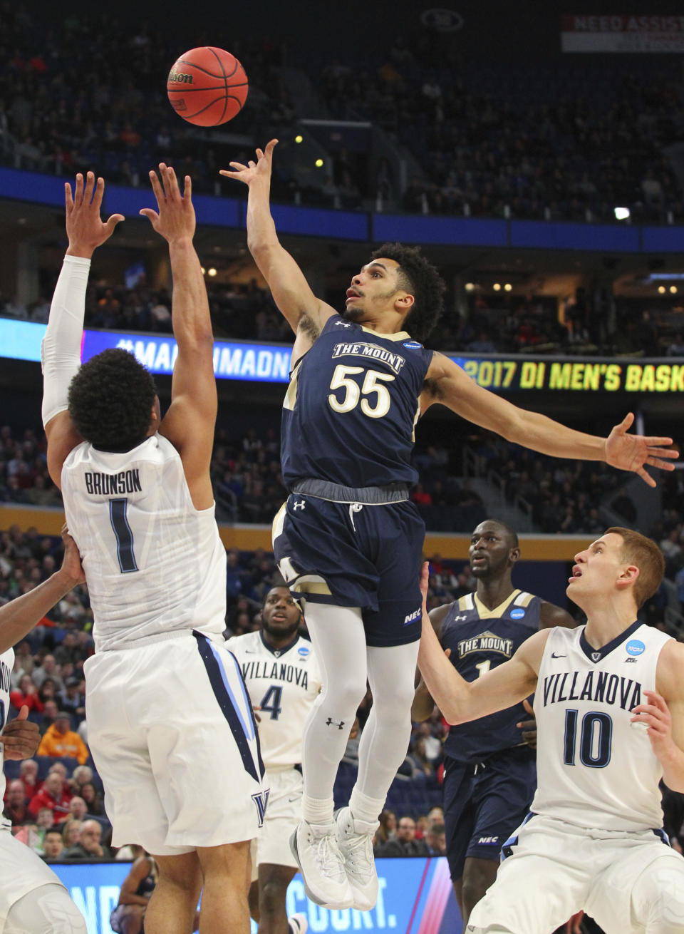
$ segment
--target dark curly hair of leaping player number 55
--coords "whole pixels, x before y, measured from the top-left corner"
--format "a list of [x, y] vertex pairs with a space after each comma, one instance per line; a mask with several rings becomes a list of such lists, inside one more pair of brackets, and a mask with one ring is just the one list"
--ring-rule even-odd
[[408, 291], [415, 299], [404, 319], [404, 330], [423, 344], [444, 310], [444, 280], [419, 247], [384, 243], [371, 255], [372, 260], [381, 257], [398, 262], [399, 288]]

